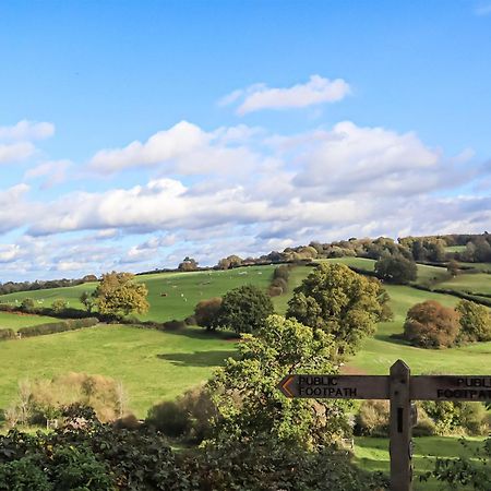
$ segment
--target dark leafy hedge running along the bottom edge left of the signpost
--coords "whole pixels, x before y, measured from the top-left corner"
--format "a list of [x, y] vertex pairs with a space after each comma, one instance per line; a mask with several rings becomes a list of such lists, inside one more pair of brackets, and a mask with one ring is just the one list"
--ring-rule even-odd
[[84, 424], [0, 436], [0, 490], [362, 491], [386, 484], [335, 447], [312, 453], [266, 440], [175, 454], [148, 427], [116, 429], [81, 407], [68, 414]]

